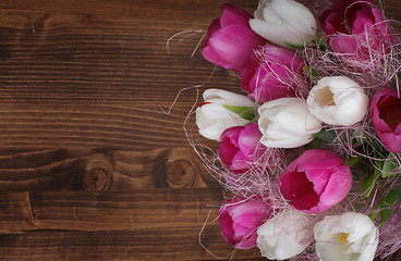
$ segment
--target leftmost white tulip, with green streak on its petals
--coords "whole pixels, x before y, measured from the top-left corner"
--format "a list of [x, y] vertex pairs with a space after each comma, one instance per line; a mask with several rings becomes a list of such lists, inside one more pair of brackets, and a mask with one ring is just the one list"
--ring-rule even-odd
[[246, 96], [221, 89], [205, 90], [204, 100], [196, 109], [196, 125], [202, 136], [217, 141], [220, 141], [220, 136], [227, 128], [248, 122], [223, 105], [254, 107], [254, 102]]

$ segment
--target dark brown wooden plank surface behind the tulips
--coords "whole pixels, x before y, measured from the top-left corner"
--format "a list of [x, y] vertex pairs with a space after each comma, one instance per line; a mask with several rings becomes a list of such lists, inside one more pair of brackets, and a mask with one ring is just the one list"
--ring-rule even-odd
[[[166, 49], [223, 2], [0, 0], [0, 260], [217, 260], [198, 243], [209, 214], [203, 245], [231, 253], [220, 185], [183, 129], [196, 90], [161, 110], [183, 88], [239, 90], [192, 57], [203, 33]], [[382, 5], [401, 20], [398, 0]]]

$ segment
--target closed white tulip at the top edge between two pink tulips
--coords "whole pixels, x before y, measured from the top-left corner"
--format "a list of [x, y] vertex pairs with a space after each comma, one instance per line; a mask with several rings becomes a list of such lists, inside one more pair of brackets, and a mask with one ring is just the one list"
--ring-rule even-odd
[[307, 45], [316, 35], [315, 16], [293, 0], [260, 0], [254, 16], [250, 21], [251, 28], [282, 47]]

